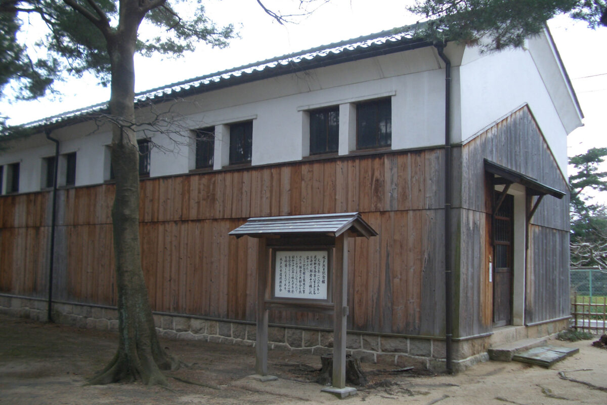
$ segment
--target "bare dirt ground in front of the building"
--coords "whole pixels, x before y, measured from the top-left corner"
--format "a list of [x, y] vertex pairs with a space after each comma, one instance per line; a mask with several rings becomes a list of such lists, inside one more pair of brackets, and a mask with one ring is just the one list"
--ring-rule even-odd
[[[363, 363], [369, 384], [344, 403], [358, 404], [580, 404], [607, 403], [607, 350], [591, 341], [555, 344], [580, 353], [551, 369], [518, 362], [486, 362], [455, 376], [422, 375]], [[189, 364], [169, 373], [170, 387], [140, 383], [87, 386], [86, 379], [114, 354], [114, 333], [41, 324], [0, 315], [0, 404], [299, 404], [339, 403], [312, 382], [319, 356], [270, 351], [277, 381], [253, 374], [251, 347], [163, 340]], [[561, 378], [562, 376], [570, 381]], [[208, 386], [184, 383], [195, 381]]]

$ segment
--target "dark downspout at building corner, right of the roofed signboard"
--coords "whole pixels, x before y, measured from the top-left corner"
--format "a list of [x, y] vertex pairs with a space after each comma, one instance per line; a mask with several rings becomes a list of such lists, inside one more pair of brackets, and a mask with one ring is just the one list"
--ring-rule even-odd
[[453, 372], [453, 276], [451, 264], [451, 61], [443, 53], [444, 44], [434, 44], [445, 63], [445, 348], [447, 372]]

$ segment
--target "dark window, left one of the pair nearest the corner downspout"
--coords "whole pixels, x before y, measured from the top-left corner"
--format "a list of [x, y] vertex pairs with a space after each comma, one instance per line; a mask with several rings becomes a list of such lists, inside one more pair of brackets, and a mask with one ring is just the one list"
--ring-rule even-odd
[[310, 155], [337, 152], [339, 107], [310, 111]]

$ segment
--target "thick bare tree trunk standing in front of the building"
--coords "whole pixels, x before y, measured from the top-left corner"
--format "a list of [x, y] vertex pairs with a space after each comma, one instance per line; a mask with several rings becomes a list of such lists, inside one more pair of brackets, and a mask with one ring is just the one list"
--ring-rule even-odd
[[[122, 2], [121, 2], [122, 3]], [[118, 289], [118, 350], [92, 384], [141, 379], [143, 383], [166, 385], [161, 369], [177, 362], [158, 342], [148, 289], [141, 268], [139, 242], [139, 151], [132, 124], [135, 123], [134, 53], [138, 26], [144, 13], [123, 9], [118, 29], [106, 35], [112, 64], [110, 114], [112, 168], [116, 196], [112, 207], [114, 257]], [[138, 15], [139, 14], [139, 15]]]

